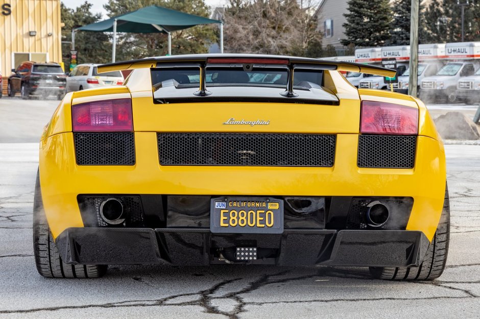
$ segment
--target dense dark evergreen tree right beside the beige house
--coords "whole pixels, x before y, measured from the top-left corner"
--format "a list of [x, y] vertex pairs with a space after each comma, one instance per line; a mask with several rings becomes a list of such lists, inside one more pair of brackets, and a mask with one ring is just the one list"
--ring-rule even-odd
[[381, 46], [390, 39], [393, 24], [389, 0], [349, 0], [343, 24], [347, 39], [343, 45]]

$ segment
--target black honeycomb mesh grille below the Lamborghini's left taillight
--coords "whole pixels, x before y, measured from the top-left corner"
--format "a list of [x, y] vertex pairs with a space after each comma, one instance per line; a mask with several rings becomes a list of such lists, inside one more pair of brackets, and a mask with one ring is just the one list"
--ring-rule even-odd
[[134, 165], [133, 132], [74, 133], [78, 165]]

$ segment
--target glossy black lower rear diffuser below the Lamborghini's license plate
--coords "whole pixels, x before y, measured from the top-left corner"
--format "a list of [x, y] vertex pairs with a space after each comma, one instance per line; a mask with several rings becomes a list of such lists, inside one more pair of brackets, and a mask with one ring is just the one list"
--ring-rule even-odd
[[[259, 251], [259, 259], [249, 263], [288, 266], [418, 266], [429, 245], [422, 232], [407, 230], [291, 229], [274, 235], [214, 234], [205, 228], [74, 227], [56, 240], [62, 259], [74, 264], [225, 263], [215, 257], [215, 251], [247, 242]], [[276, 253], [261, 258], [261, 249]]]

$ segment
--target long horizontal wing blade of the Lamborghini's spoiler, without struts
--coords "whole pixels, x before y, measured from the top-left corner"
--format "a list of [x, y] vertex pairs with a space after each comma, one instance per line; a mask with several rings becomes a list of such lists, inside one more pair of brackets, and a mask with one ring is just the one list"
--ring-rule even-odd
[[[394, 77], [396, 74], [396, 70], [382, 68], [379, 66], [367, 65], [367, 64], [353, 63], [353, 62], [328, 61], [328, 60], [320, 60], [320, 59], [283, 57], [283, 56], [240, 55], [240, 54], [238, 55], [229, 55], [229, 54], [179, 55], [179, 56], [170, 56], [170, 57], [147, 58], [147, 59], [103, 64], [103, 65], [99, 65], [97, 69], [99, 73], [104, 73], [104, 72], [110, 72], [110, 71], [156, 68], [159, 66], [159, 64], [173, 63], [173, 62], [174, 63], [175, 62], [198, 63], [200, 65], [205, 66], [206, 64], [211, 63], [212, 60], [239, 61], [239, 63], [242, 63], [242, 61], [259, 61], [258, 63], [260, 64], [270, 60], [271, 61], [270, 64], [287, 64], [293, 69], [295, 69], [296, 65], [302, 68], [305, 68], [306, 65], [309, 65], [308, 68], [314, 68], [319, 70], [359, 72], [359, 73], [367, 73], [367, 74], [389, 76], [389, 77]], [[275, 62], [282, 62], [282, 61], [284, 61], [285, 63], [275, 63]], [[213, 63], [219, 63], [219, 62], [213, 62]]]

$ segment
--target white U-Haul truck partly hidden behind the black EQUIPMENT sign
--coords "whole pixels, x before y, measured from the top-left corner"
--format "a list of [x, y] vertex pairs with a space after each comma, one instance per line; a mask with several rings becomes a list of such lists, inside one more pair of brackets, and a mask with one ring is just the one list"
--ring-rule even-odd
[[[384, 46], [381, 48], [381, 59], [395, 58], [397, 60], [397, 76], [403, 75], [409, 68], [410, 61], [410, 45]], [[369, 76], [360, 81], [358, 86], [361, 89], [380, 89], [386, 90], [390, 86], [385, 83], [383, 76]], [[394, 83], [393, 88], [398, 88], [398, 84]]]

